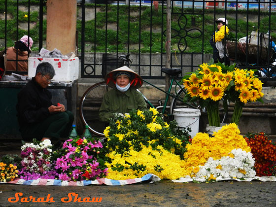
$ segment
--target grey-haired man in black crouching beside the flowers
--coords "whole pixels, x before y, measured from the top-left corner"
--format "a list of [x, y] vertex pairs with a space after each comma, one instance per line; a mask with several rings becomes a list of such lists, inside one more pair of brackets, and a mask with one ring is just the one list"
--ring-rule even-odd
[[46, 89], [55, 70], [50, 63], [40, 63], [35, 77], [18, 93], [16, 105], [20, 132], [23, 140], [33, 138], [59, 140], [67, 138], [73, 122], [73, 114], [65, 106], [55, 106], [52, 95]]

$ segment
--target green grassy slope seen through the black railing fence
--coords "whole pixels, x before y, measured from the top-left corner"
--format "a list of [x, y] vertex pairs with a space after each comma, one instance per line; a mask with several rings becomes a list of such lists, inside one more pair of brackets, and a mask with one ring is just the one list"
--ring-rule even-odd
[[[7, 46], [13, 46], [13, 42], [16, 40], [17, 34], [17, 1], [15, 0], [7, 0], [7, 14], [12, 19], [7, 20]], [[28, 6], [29, 0], [21, 0], [19, 1], [20, 5]], [[31, 5], [39, 6], [39, 0], [30, 0]], [[95, 8], [95, 4], [86, 3], [87, 8]], [[79, 9], [79, 8], [78, 8]], [[139, 11], [141, 9], [141, 11]], [[185, 13], [186, 18], [181, 16], [181, 12]], [[129, 11], [131, 12], [129, 16]], [[96, 20], [89, 20], [85, 22], [85, 41], [91, 42], [93, 45], [91, 47], [90, 52], [125, 52], [128, 44], [141, 44], [140, 50], [139, 48], [133, 48], [130, 52], [142, 52], [142, 53], [155, 53], [161, 52], [161, 48], [163, 47], [163, 51], [165, 52], [165, 35], [163, 35], [162, 42], [162, 30], [161, 25], [163, 24], [163, 32], [166, 30], [166, 6], [162, 10], [162, 6], [159, 6], [157, 11], [154, 10], [153, 7], [150, 6], [128, 6], [128, 5], [105, 5], [105, 4], [97, 4], [97, 13]], [[0, 0], [0, 12], [5, 12], [5, 0]], [[44, 14], [46, 13], [46, 7], [43, 7]], [[181, 43], [180, 47], [183, 48], [187, 46], [185, 52], [194, 52], [205, 54], [212, 53], [212, 47], [210, 46], [209, 39], [211, 38], [214, 31], [217, 29], [216, 25], [214, 25], [214, 19], [223, 16], [225, 10], [218, 9], [205, 9], [203, 12], [202, 9], [192, 10], [191, 8], [181, 8], [181, 7], [173, 7], [172, 13], [172, 29], [179, 31], [180, 29], [185, 29], [189, 31], [191, 29], [197, 28], [204, 33], [204, 36], [198, 31], [190, 31], [188, 32], [188, 36], [185, 36], [185, 41], [182, 38], [180, 40], [180, 35], [176, 34], [175, 37], [172, 38], [171, 43], [174, 45], [172, 51], [178, 51], [177, 44]], [[269, 17], [267, 12], [259, 12], [257, 10], [249, 10], [249, 15], [258, 15], [260, 14], [260, 23], [251, 20], [250, 16], [248, 19], [248, 26], [246, 18], [240, 18], [236, 20], [234, 17], [236, 10], [230, 9], [228, 11], [228, 27], [230, 29], [230, 35], [228, 37], [229, 40], [238, 40], [247, 34], [250, 35], [252, 31], [259, 31], [262, 33], [267, 33], [271, 30], [271, 36], [273, 39], [276, 38], [275, 28], [276, 28], [276, 15], [271, 15]], [[196, 14], [192, 14], [196, 13]], [[28, 15], [26, 17], [25, 15]], [[246, 16], [246, 10], [239, 9], [239, 15]], [[25, 16], [25, 17], [24, 17]], [[179, 19], [180, 18], [180, 19]], [[271, 18], [271, 19], [269, 19]], [[192, 19], [195, 20], [195, 24], [192, 25]], [[270, 21], [269, 21], [270, 20]], [[34, 28], [30, 29], [30, 36], [34, 39], [34, 42], [38, 42], [38, 34], [39, 34], [39, 13], [37, 11], [31, 11], [30, 15], [28, 12], [18, 11], [18, 22], [19, 23], [27, 23], [30, 21], [31, 24], [35, 24]], [[107, 21], [107, 32], [105, 32], [105, 22]], [[117, 23], [118, 21], [118, 23]], [[271, 25], [268, 24], [271, 22]], [[179, 25], [180, 24], [180, 25]], [[95, 27], [96, 25], [96, 27]], [[109, 26], [112, 26], [110, 28]], [[5, 31], [5, 21], [4, 19], [0, 20], [0, 38], [4, 38]], [[150, 35], [150, 28], [153, 33]], [[96, 29], [96, 33], [95, 33]], [[139, 32], [139, 29], [141, 31]], [[77, 31], [81, 32], [81, 20], [77, 20]], [[158, 32], [160, 31], [160, 32]], [[247, 32], [248, 31], [248, 32]], [[118, 33], [117, 33], [118, 32]], [[181, 33], [183, 34], [183, 30]], [[18, 29], [18, 38], [23, 35], [26, 35], [27, 29], [22, 30]], [[129, 35], [127, 35], [129, 33]], [[96, 34], [96, 39], [95, 39]], [[199, 38], [193, 38], [198, 37]], [[81, 35], [78, 35], [78, 48], [81, 48]], [[43, 40], [46, 39], [46, 20], [43, 20]], [[105, 40], [107, 40], [107, 44], [105, 44]], [[199, 42], [202, 42], [200, 43]], [[118, 46], [117, 46], [118, 43]], [[94, 47], [96, 44], [96, 47]], [[2, 49], [2, 48], [0, 48]], [[33, 51], [38, 50], [38, 48], [33, 47]], [[89, 51], [87, 51], [89, 52]]]

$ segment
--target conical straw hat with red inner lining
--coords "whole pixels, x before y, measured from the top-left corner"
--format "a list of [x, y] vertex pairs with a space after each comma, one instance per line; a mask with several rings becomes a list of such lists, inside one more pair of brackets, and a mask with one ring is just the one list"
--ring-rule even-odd
[[143, 79], [141, 78], [141, 76], [138, 75], [138, 73], [136, 73], [132, 69], [128, 68], [127, 66], [114, 69], [111, 72], [107, 73], [104, 78], [104, 81], [106, 82], [106, 84], [111, 88], [116, 88], [116, 74], [121, 71], [125, 71], [131, 74], [131, 78], [130, 78], [131, 87], [134, 87], [137, 89], [143, 85]]

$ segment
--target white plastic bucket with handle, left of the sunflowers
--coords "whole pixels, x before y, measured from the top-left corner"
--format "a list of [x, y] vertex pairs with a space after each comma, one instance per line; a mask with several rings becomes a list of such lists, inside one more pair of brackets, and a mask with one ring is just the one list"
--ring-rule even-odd
[[199, 131], [200, 109], [195, 108], [175, 108], [173, 116], [179, 128], [191, 128], [189, 134], [193, 138]]

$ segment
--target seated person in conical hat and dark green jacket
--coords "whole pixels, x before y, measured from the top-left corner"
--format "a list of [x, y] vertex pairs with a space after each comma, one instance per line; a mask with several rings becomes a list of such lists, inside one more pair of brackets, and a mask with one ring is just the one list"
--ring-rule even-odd
[[105, 76], [105, 82], [112, 90], [104, 95], [99, 111], [100, 120], [108, 122], [114, 113], [129, 113], [132, 109], [147, 110], [145, 100], [136, 90], [143, 84], [142, 78], [132, 69], [124, 66], [114, 69]]

